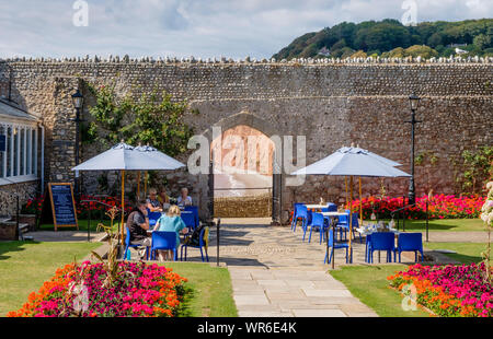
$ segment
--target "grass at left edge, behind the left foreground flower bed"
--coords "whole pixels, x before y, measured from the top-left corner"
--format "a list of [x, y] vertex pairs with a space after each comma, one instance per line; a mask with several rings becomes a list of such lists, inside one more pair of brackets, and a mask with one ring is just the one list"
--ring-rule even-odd
[[57, 268], [80, 260], [101, 243], [0, 243], [0, 316], [16, 311]]

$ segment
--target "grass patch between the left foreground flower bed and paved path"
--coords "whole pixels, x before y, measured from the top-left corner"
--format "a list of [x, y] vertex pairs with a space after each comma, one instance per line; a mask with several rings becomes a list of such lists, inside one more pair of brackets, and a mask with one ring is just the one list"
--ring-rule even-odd
[[238, 317], [227, 268], [196, 262], [167, 262], [165, 267], [188, 279], [191, 295], [181, 316]]

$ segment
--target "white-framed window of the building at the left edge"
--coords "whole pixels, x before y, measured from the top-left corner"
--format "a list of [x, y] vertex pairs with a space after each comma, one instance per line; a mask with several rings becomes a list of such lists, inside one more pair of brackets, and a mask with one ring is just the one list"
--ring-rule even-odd
[[[7, 139], [9, 139], [8, 130], [10, 128], [10, 150], [3, 152], [2, 160], [0, 162], [0, 166], [3, 167], [2, 176], [0, 177], [0, 186], [12, 185], [25, 182], [33, 182], [39, 179], [37, 176], [37, 138], [38, 138], [38, 126], [37, 122], [24, 122], [24, 121], [7, 121], [0, 120], [0, 127], [2, 127]], [[14, 133], [13, 131], [18, 131], [18, 140], [16, 147], [14, 148]], [[21, 143], [21, 130], [24, 131], [23, 143]], [[32, 137], [27, 138], [27, 132], [33, 133], [34, 130], [34, 140]], [[27, 141], [28, 144], [27, 144]], [[21, 159], [21, 144], [23, 144], [23, 156]], [[14, 149], [16, 149], [16, 154], [14, 154]], [[34, 163], [33, 154], [34, 152]], [[14, 156], [15, 155], [15, 156]], [[10, 176], [7, 176], [8, 167], [7, 167], [7, 159], [10, 157]], [[13, 176], [14, 161], [16, 162], [16, 175]], [[23, 173], [21, 173], [21, 162], [23, 162]], [[28, 165], [27, 165], [28, 164]], [[34, 166], [34, 168], [33, 168]]]

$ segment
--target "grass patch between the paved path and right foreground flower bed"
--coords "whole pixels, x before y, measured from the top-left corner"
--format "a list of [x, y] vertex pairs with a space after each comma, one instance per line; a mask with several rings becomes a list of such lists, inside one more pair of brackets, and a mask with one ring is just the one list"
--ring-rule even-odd
[[404, 311], [403, 297], [389, 288], [387, 277], [405, 268], [405, 265], [345, 266], [330, 273], [381, 317], [428, 317], [420, 307]]

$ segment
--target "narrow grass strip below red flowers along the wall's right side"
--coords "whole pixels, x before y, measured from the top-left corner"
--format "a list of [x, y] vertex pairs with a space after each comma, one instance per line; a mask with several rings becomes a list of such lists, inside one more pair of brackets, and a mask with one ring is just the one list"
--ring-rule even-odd
[[[389, 222], [390, 220], [385, 220]], [[365, 221], [367, 222], [367, 221]], [[397, 226], [397, 220], [395, 220]], [[402, 230], [402, 220], [399, 222]], [[428, 222], [429, 231], [484, 231], [484, 222], [481, 219], [434, 219]], [[405, 231], [426, 231], [426, 220], [406, 220]]]

